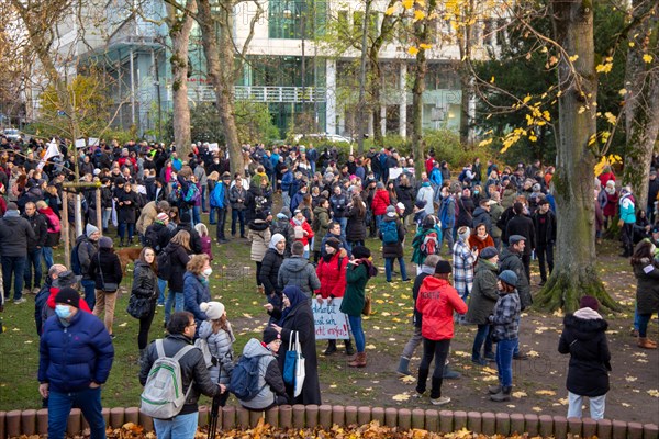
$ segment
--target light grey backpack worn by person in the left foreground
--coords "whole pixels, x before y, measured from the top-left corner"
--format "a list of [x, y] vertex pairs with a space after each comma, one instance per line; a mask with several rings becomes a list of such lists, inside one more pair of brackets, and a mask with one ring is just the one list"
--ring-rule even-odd
[[166, 357], [163, 339], [156, 340], [158, 359], [152, 365], [139, 396], [139, 412], [156, 419], [169, 419], [180, 413], [193, 383], [190, 383], [188, 392], [183, 394], [179, 360], [192, 349], [194, 346], [187, 345], [176, 352], [176, 356]]

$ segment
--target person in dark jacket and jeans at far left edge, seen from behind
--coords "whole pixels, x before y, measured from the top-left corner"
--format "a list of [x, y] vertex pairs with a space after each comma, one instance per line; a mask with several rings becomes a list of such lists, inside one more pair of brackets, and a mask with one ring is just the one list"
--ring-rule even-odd
[[11, 295], [12, 277], [13, 302], [15, 304], [25, 302], [23, 297], [23, 271], [30, 239], [36, 239], [30, 222], [21, 217], [16, 203], [8, 203], [4, 216], [0, 218], [0, 255], [2, 255], [2, 279], [4, 280], [2, 303], [8, 301]]

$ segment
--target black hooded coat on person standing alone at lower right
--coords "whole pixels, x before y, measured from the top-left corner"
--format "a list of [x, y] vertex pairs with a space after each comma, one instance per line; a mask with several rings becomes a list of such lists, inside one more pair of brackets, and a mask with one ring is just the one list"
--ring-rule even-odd
[[578, 317], [582, 312], [563, 318], [558, 351], [570, 354], [568, 391], [581, 396], [602, 396], [608, 392], [611, 370], [611, 352], [604, 334], [608, 324], [603, 318]]

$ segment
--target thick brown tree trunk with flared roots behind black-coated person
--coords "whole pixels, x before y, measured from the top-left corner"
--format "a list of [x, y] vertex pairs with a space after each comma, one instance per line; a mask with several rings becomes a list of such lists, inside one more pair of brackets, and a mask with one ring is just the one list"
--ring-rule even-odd
[[[558, 65], [559, 133], [554, 175], [558, 221], [556, 266], [536, 305], [574, 311], [583, 295], [607, 308], [618, 306], [604, 290], [595, 264], [594, 166], [588, 147], [595, 134], [597, 77], [594, 69], [593, 10], [589, 0], [551, 1], [556, 42], [572, 59]], [[572, 69], [573, 66], [573, 69]], [[585, 109], [585, 111], [583, 110]]]

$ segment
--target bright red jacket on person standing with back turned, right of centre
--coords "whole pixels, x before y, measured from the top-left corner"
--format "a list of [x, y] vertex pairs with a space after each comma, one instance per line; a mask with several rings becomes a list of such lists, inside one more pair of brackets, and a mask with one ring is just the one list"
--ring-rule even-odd
[[428, 275], [418, 290], [416, 311], [423, 316], [421, 335], [428, 340], [446, 340], [454, 336], [454, 311], [465, 314], [467, 304], [448, 281]]

